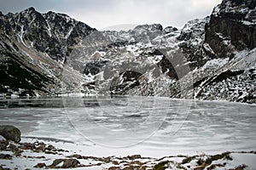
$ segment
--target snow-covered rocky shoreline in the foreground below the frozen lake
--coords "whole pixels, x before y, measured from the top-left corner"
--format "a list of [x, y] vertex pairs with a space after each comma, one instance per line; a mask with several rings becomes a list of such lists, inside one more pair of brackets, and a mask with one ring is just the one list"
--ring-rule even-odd
[[22, 138], [19, 144], [1, 142], [1, 169], [253, 169], [256, 151], [225, 151], [216, 155], [89, 156], [81, 145]]

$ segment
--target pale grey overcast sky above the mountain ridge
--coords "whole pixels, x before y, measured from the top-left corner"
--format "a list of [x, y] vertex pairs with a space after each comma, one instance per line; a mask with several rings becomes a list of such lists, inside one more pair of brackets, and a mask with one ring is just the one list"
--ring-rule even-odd
[[0, 0], [0, 11], [52, 10], [98, 30], [153, 23], [180, 28], [189, 20], [211, 14], [218, 3], [221, 0]]

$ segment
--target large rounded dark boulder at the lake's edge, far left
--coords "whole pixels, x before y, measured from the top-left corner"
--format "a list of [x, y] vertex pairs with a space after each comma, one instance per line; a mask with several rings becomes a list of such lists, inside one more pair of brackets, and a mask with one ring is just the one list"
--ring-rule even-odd
[[7, 140], [12, 140], [16, 143], [20, 142], [20, 129], [10, 125], [0, 126], [0, 135]]

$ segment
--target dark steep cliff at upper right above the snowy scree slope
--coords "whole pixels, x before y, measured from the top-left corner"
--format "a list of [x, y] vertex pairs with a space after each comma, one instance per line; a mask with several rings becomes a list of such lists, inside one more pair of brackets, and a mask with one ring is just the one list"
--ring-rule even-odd
[[205, 45], [212, 58], [232, 58], [234, 50], [255, 48], [255, 1], [224, 0], [214, 8], [206, 26]]

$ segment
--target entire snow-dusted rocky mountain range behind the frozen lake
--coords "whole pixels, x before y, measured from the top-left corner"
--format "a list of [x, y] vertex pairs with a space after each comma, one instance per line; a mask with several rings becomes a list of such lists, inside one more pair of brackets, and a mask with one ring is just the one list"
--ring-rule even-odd
[[0, 93], [256, 102], [254, 0], [224, 0], [182, 29], [96, 31], [66, 14], [0, 14]]

